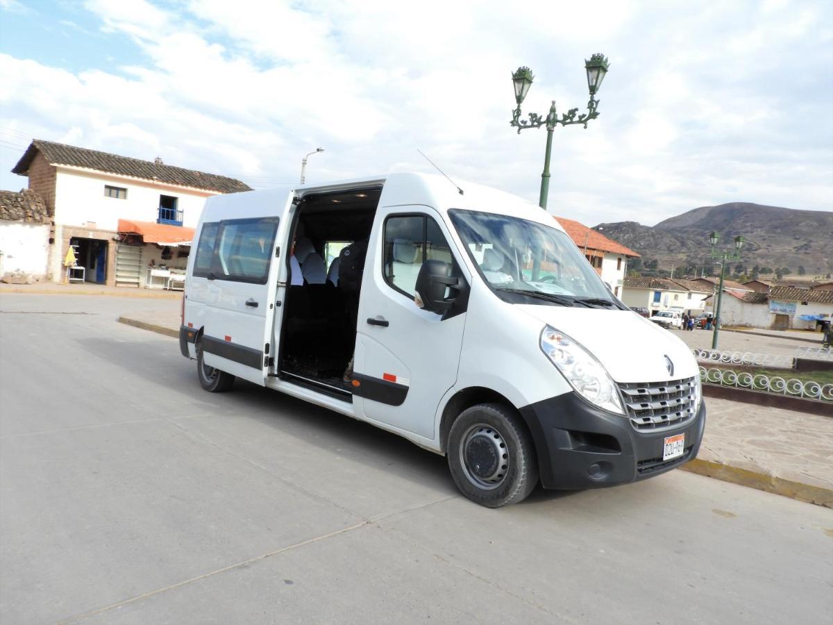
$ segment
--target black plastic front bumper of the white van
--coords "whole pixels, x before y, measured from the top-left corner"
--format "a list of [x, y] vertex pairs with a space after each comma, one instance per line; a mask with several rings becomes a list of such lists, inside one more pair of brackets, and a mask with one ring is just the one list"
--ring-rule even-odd
[[[636, 482], [693, 460], [706, 426], [706, 402], [676, 428], [637, 432], [631, 420], [564, 393], [521, 408], [535, 441], [544, 488], [581, 490]], [[665, 438], [686, 434], [681, 458], [663, 461]]]

